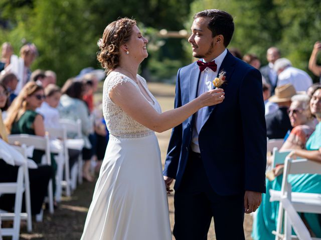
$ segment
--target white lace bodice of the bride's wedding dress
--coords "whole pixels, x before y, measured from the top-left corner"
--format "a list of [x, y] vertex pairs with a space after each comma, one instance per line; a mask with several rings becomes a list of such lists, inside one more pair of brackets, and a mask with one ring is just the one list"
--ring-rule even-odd
[[[147, 88], [146, 80], [137, 74], [137, 80], [139, 80], [144, 86], [145, 90], [149, 94], [150, 98], [153, 100], [154, 104], [150, 101], [147, 101], [153, 106], [153, 108], [161, 112], [161, 106], [155, 99], [155, 97], [150, 93]], [[104, 87], [103, 87], [103, 115], [107, 124], [107, 128], [109, 133], [111, 134], [111, 138], [137, 138], [143, 137], [149, 134], [152, 134], [153, 131], [139, 122], [135, 121], [133, 118], [128, 116], [118, 105], [116, 105], [109, 97], [109, 92], [113, 87], [118, 84], [123, 84], [125, 82], [130, 82], [133, 84], [139, 92], [139, 86], [136, 82], [134, 82], [128, 76], [112, 71], [108, 74], [105, 79]], [[141, 93], [142, 94], [142, 93]]]

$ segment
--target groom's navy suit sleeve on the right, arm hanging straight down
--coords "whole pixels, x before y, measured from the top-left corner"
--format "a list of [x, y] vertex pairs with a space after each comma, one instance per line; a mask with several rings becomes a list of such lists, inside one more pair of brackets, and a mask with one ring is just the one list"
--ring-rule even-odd
[[245, 190], [265, 192], [266, 123], [262, 76], [250, 68], [240, 86], [239, 104], [244, 142]]

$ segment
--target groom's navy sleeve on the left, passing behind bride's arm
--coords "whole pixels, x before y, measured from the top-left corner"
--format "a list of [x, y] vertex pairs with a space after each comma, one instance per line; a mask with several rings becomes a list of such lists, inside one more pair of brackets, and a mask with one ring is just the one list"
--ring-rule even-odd
[[[180, 70], [177, 73], [176, 89], [175, 89], [175, 108], [182, 106], [181, 87], [180, 87]], [[167, 150], [167, 156], [164, 166], [163, 175], [176, 178], [179, 159], [182, 148], [182, 123], [174, 127]]]

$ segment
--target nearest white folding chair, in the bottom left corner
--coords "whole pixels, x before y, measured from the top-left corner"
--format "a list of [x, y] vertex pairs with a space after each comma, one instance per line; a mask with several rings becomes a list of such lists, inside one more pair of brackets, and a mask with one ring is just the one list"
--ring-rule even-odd
[[[15, 210], [14, 212], [0, 212], [0, 228], [2, 220], [13, 220], [13, 227], [2, 228], [1, 236], [12, 236], [12, 239], [19, 239], [20, 222], [21, 220], [27, 221], [27, 231], [32, 231], [31, 219], [31, 201], [30, 201], [30, 184], [29, 184], [29, 171], [27, 164], [26, 145], [13, 146], [19, 151], [25, 159], [25, 162], [18, 168], [18, 177], [16, 182], [2, 182], [0, 183], [0, 195], [4, 193], [15, 193]], [[25, 192], [26, 212], [21, 212], [23, 193]]]

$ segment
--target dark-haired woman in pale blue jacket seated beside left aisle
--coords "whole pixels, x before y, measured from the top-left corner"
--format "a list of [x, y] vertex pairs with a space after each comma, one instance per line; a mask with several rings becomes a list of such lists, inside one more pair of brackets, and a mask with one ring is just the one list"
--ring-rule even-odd
[[93, 132], [93, 122], [89, 117], [89, 109], [83, 101], [84, 84], [81, 81], [68, 79], [62, 87], [63, 95], [60, 98], [58, 107], [60, 116], [71, 120], [81, 120], [81, 129], [85, 146], [83, 148], [83, 177], [88, 181], [93, 181], [90, 174], [90, 159], [93, 155], [92, 145], [89, 141], [89, 134]]

